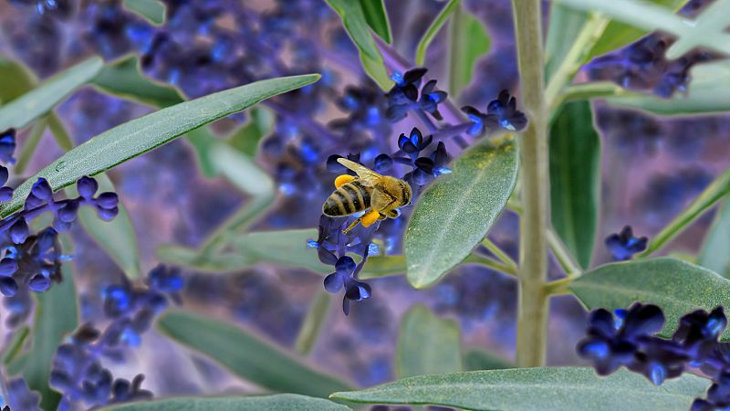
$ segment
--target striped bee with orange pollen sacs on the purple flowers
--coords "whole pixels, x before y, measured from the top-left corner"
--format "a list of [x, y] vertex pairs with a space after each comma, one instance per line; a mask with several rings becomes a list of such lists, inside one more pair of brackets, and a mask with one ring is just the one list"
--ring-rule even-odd
[[344, 234], [358, 224], [370, 227], [378, 220], [396, 218], [401, 215], [398, 207], [411, 204], [411, 185], [403, 180], [375, 173], [344, 158], [337, 161], [358, 176], [344, 174], [335, 179], [336, 189], [322, 205], [322, 213], [326, 216], [349, 216], [370, 209], [345, 228]]

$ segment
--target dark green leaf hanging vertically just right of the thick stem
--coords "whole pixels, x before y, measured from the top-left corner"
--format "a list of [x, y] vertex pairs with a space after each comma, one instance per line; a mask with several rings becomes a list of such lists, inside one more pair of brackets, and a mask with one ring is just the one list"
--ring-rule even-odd
[[549, 150], [552, 224], [587, 269], [600, 204], [600, 136], [588, 101], [563, 105], [550, 128]]

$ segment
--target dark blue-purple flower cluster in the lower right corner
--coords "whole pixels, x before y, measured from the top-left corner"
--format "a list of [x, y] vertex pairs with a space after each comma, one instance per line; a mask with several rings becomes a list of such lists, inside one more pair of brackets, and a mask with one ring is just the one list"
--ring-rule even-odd
[[697, 398], [692, 411], [713, 411], [730, 406], [730, 344], [719, 342], [727, 319], [722, 307], [697, 310], [682, 317], [672, 338], [656, 336], [664, 326], [662, 310], [634, 303], [615, 316], [604, 309], [591, 311], [588, 335], [578, 345], [600, 375], [621, 366], [643, 374], [655, 385], [699, 367], [714, 380], [706, 398]]

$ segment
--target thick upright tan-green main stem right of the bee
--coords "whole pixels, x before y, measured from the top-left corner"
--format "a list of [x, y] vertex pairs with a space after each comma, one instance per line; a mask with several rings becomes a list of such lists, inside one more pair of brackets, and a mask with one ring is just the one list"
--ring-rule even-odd
[[517, 364], [545, 364], [547, 345], [547, 116], [540, 0], [512, 0], [521, 97], [530, 123], [520, 134], [520, 219]]

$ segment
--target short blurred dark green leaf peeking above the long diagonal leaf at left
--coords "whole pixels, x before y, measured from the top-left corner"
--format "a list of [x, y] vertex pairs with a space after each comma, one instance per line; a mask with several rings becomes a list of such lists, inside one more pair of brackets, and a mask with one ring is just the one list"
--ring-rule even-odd
[[100, 90], [121, 99], [140, 102], [156, 109], [184, 101], [180, 91], [169, 84], [143, 75], [139, 67], [140, 63], [136, 56], [120, 58], [104, 66], [93, 84]]

